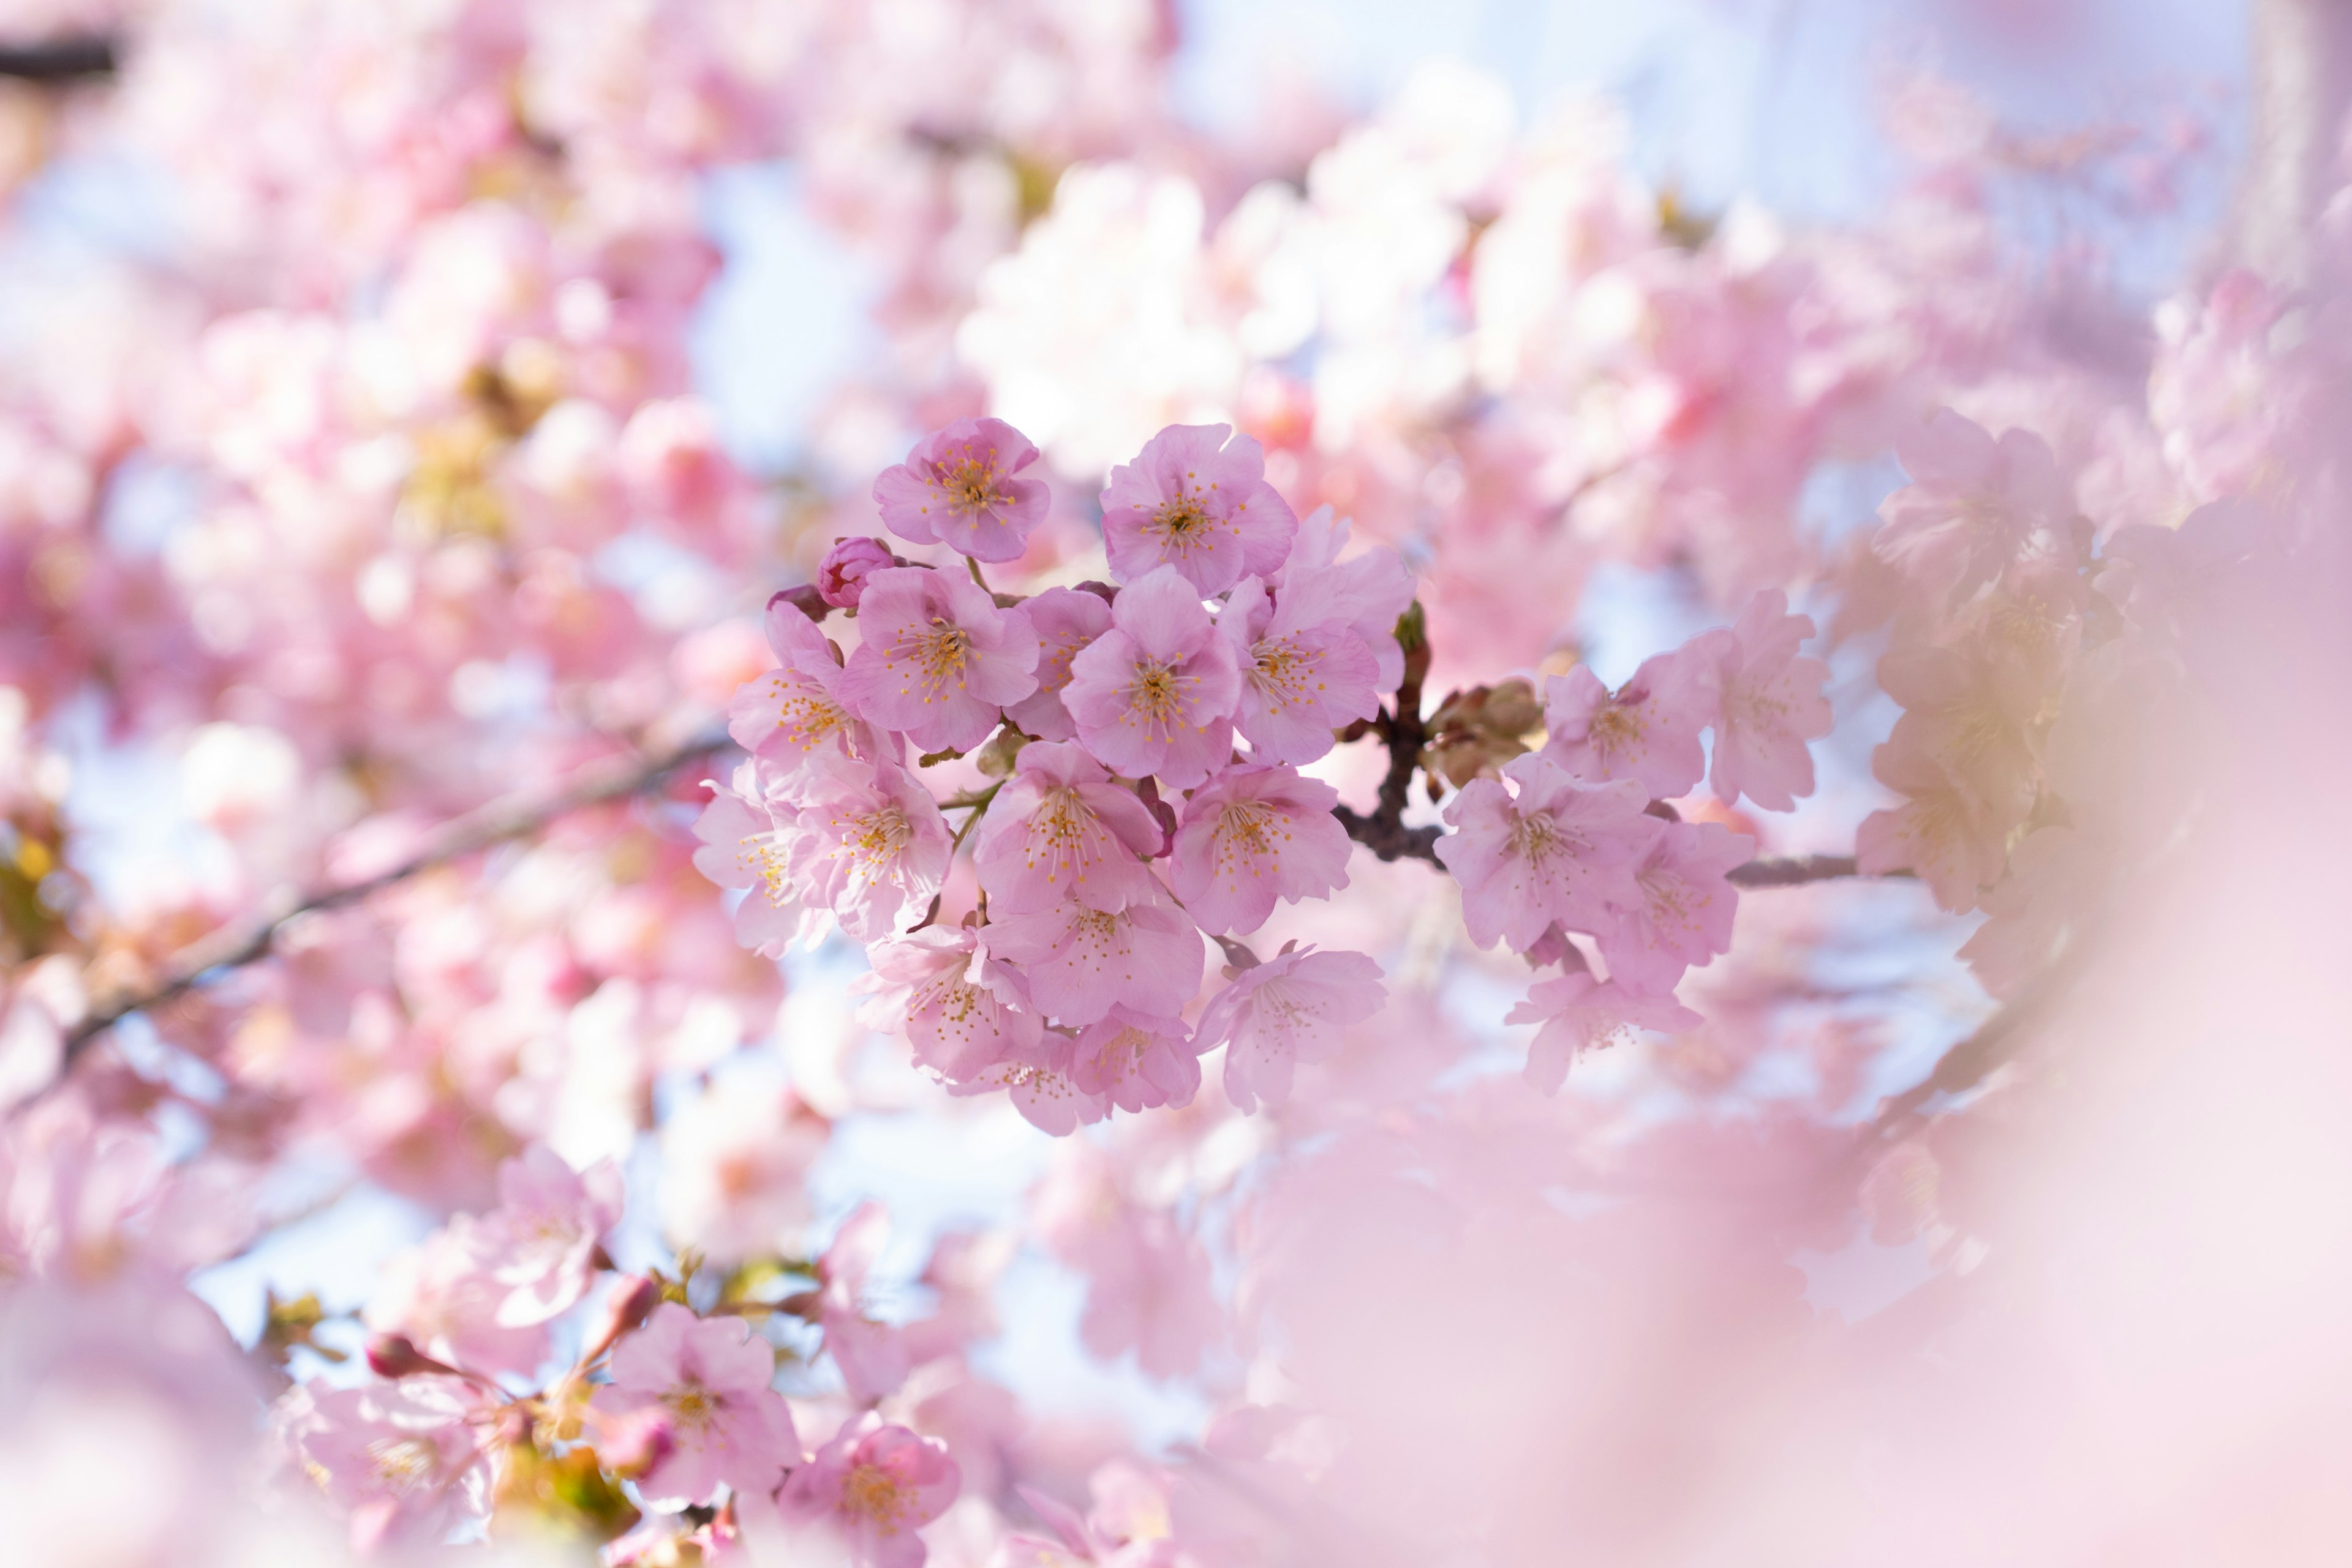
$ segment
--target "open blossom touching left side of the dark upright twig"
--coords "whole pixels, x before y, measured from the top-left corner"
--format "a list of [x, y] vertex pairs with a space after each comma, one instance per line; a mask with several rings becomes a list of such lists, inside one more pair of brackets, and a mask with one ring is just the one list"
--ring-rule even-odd
[[1247, 576], [1216, 618], [1242, 672], [1235, 729], [1263, 762], [1315, 762], [1331, 731], [1381, 712], [1378, 663], [1324, 583], [1270, 599]]

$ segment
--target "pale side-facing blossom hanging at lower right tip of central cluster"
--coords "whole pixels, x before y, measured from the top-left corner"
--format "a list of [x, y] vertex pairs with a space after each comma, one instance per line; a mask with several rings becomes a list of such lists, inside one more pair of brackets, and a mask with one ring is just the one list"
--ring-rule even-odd
[[1298, 1063], [1338, 1048], [1338, 1032], [1381, 1011], [1381, 966], [1362, 952], [1284, 947], [1209, 997], [1200, 1048], [1225, 1046], [1225, 1098], [1235, 1110], [1282, 1105]]

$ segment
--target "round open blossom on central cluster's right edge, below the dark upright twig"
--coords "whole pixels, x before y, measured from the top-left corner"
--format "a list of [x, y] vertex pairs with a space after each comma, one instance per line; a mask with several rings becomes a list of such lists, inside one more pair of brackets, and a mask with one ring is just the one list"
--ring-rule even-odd
[[1169, 877], [1202, 931], [1249, 933], [1277, 900], [1348, 886], [1338, 790], [1298, 769], [1225, 769], [1185, 802]]

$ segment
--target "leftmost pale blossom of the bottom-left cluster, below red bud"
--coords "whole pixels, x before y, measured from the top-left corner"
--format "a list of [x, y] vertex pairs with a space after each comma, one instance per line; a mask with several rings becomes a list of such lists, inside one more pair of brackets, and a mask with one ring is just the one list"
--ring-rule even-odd
[[355, 1389], [313, 1382], [285, 1422], [303, 1469], [350, 1514], [350, 1544], [437, 1547], [461, 1519], [489, 1512], [489, 1425], [456, 1378], [405, 1378]]

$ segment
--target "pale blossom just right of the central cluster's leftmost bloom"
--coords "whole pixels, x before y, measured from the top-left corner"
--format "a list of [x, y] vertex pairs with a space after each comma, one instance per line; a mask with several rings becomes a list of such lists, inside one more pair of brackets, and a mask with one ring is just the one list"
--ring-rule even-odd
[[861, 943], [922, 912], [948, 875], [953, 835], [931, 792], [896, 762], [816, 757], [790, 875]]

